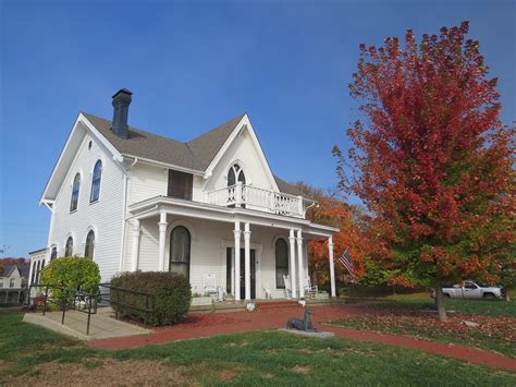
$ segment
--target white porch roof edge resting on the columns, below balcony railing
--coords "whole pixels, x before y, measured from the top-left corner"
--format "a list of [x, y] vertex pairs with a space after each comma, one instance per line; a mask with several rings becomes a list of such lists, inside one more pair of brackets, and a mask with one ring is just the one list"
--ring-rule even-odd
[[339, 232], [339, 228], [312, 223], [307, 219], [265, 213], [248, 208], [229, 208], [208, 203], [185, 201], [169, 196], [155, 196], [128, 206], [130, 219], [145, 219], [164, 211], [185, 217], [217, 220], [224, 222], [249, 222], [251, 225], [297, 229], [305, 234], [329, 238]]

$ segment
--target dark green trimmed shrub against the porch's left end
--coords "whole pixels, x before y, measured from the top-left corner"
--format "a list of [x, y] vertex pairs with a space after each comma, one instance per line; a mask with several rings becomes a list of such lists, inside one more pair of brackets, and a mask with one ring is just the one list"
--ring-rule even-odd
[[[111, 306], [119, 314], [149, 325], [169, 325], [188, 312], [192, 289], [185, 276], [176, 273], [122, 273], [111, 279]], [[114, 288], [149, 294], [149, 298]], [[118, 304], [115, 303], [118, 302]], [[148, 311], [152, 310], [153, 313]]]

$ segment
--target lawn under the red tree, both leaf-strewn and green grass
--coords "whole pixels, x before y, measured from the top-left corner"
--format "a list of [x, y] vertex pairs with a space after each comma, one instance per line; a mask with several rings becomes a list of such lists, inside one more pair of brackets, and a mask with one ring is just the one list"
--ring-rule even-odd
[[[364, 301], [359, 298], [353, 302]], [[494, 350], [516, 358], [516, 302], [499, 300], [446, 300], [449, 322], [437, 321], [433, 300], [425, 293], [368, 299], [370, 314], [330, 324], [363, 330], [388, 331]], [[468, 327], [474, 322], [478, 327]]]

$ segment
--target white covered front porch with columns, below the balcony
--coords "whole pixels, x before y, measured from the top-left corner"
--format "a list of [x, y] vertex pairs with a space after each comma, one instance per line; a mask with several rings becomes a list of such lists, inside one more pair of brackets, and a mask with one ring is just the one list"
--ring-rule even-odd
[[193, 293], [216, 287], [235, 301], [303, 299], [310, 285], [307, 241], [327, 239], [335, 297], [331, 235], [339, 229], [162, 196], [134, 204], [130, 211], [124, 270], [182, 273]]

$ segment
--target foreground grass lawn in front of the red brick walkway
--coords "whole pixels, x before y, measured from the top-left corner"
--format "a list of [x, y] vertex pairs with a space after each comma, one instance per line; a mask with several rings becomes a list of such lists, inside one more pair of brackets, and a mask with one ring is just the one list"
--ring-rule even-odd
[[278, 331], [102, 351], [0, 315], [0, 385], [499, 385], [516, 374], [420, 351]]

